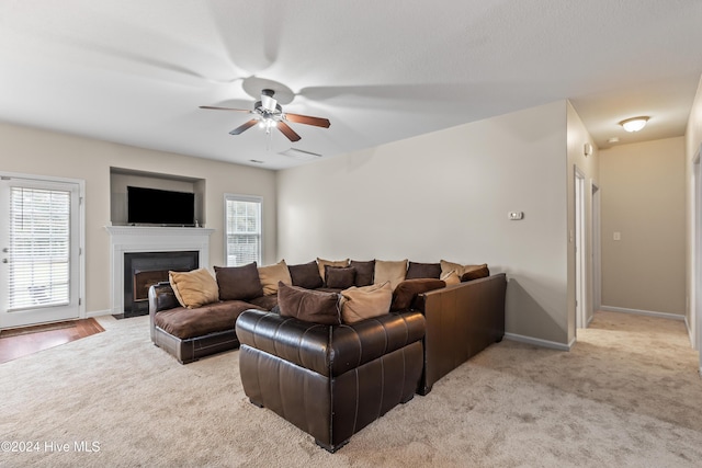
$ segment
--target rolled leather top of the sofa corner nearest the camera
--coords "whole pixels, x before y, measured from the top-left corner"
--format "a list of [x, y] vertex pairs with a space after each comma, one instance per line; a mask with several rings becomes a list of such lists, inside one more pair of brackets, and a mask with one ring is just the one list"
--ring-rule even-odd
[[324, 326], [246, 310], [237, 319], [236, 331], [242, 346], [333, 377], [420, 341], [424, 335], [424, 318], [419, 312], [403, 312], [350, 326]]

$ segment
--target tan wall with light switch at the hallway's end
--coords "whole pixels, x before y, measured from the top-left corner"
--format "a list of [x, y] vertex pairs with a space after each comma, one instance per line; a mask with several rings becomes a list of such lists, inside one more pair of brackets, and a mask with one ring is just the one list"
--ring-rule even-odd
[[600, 170], [602, 307], [683, 315], [683, 138], [602, 150]]

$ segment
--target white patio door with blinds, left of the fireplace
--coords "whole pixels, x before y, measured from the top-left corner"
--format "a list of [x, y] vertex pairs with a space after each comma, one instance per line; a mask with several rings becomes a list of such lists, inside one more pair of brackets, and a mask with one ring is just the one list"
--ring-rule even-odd
[[80, 316], [80, 185], [0, 180], [0, 329]]

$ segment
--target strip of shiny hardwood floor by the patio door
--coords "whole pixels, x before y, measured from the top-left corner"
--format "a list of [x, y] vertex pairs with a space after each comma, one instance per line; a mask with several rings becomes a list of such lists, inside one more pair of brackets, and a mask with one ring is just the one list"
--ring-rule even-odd
[[93, 318], [4, 330], [0, 332], [0, 364], [102, 331]]

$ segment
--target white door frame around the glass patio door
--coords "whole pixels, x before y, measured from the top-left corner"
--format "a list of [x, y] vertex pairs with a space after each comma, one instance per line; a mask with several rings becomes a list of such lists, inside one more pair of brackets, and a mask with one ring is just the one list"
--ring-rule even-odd
[[71, 236], [78, 236], [78, 318], [86, 318], [86, 181], [82, 179], [37, 175], [20, 172], [0, 171], [1, 180], [20, 179], [30, 182], [65, 183], [78, 186], [78, 226], [71, 230]]

